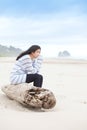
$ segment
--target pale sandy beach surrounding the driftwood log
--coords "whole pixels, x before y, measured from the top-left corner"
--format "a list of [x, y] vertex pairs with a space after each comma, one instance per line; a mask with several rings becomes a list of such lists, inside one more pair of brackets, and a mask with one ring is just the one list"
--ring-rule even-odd
[[[9, 84], [15, 58], [0, 58], [0, 86]], [[44, 59], [43, 87], [57, 104], [34, 110], [10, 100], [0, 90], [0, 130], [87, 130], [87, 61]]]

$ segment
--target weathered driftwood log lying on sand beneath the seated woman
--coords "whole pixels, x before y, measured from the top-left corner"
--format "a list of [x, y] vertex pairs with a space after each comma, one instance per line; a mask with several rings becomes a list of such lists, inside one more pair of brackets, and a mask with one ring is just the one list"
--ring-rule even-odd
[[45, 88], [31, 86], [28, 83], [6, 85], [2, 87], [2, 91], [9, 98], [26, 106], [50, 109], [56, 105], [53, 92]]

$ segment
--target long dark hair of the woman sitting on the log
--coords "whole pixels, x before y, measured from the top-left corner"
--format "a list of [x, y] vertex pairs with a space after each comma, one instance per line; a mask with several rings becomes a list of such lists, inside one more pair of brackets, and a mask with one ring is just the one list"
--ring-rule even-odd
[[24, 55], [31, 54], [32, 52], [35, 52], [38, 49], [41, 50], [41, 47], [38, 46], [38, 45], [32, 45], [28, 50], [26, 50], [26, 51], [22, 52], [21, 54], [19, 54], [19, 56], [16, 58], [16, 60], [20, 59]]

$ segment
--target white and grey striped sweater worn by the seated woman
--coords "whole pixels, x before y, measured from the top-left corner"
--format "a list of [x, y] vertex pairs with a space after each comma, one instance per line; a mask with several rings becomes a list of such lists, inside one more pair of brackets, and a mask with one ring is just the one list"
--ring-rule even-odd
[[15, 62], [15, 65], [10, 74], [11, 84], [20, 84], [26, 82], [27, 74], [39, 73], [42, 56], [32, 60], [29, 55], [24, 55]]

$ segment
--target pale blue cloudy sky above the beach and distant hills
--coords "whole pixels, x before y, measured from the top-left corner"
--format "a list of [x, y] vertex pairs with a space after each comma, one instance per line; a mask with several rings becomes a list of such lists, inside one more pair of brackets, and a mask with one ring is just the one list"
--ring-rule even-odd
[[0, 44], [87, 57], [86, 0], [0, 0]]

